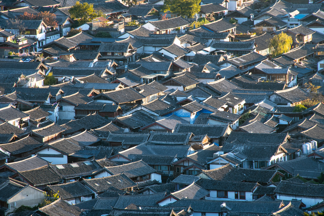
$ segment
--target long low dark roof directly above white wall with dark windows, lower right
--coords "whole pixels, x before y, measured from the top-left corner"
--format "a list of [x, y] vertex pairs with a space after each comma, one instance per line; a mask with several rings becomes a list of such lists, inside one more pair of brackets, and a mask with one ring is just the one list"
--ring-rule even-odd
[[249, 191], [253, 192], [259, 185], [257, 183], [249, 182], [228, 182], [216, 181], [211, 179], [199, 179], [197, 185], [206, 190], [225, 190], [225, 191]]

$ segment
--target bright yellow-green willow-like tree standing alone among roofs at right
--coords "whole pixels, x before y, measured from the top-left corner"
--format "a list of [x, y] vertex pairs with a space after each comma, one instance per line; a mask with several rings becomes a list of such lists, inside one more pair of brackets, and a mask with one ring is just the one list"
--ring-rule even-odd
[[293, 44], [293, 39], [284, 32], [275, 35], [269, 43], [269, 50], [272, 57], [277, 57], [285, 52], [288, 52]]

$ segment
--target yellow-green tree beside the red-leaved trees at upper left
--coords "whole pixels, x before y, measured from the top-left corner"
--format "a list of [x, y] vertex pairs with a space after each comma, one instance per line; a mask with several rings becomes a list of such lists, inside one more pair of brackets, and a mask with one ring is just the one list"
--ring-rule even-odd
[[79, 1], [69, 9], [69, 13], [71, 18], [79, 20], [80, 25], [90, 22], [96, 17], [104, 16], [101, 10], [93, 9], [93, 4], [80, 3]]

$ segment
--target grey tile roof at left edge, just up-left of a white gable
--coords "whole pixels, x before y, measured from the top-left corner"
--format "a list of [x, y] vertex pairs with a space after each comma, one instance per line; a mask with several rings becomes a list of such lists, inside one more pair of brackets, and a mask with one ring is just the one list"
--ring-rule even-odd
[[43, 145], [42, 143], [27, 136], [21, 140], [17, 140], [16, 142], [1, 144], [0, 147], [5, 149], [10, 154], [15, 155], [20, 153], [30, 152], [32, 150], [41, 147], [42, 145]]

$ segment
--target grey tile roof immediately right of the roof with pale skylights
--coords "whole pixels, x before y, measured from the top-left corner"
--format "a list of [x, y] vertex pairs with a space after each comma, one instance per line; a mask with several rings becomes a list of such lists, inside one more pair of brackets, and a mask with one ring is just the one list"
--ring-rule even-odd
[[137, 177], [137, 176], [145, 176], [148, 174], [155, 173], [156, 170], [145, 164], [143, 161], [136, 161], [129, 164], [124, 164], [120, 166], [110, 166], [106, 167], [108, 172], [111, 174], [125, 174], [129, 178]]

